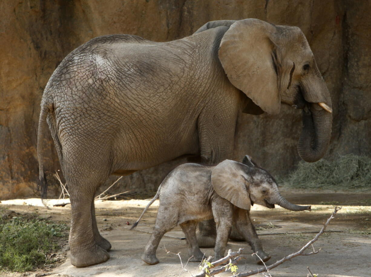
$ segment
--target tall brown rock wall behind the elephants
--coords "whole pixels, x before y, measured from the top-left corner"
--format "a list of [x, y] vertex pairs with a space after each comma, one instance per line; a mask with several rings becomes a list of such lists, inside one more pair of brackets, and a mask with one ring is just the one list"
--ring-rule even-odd
[[[70, 51], [104, 34], [174, 40], [211, 20], [254, 17], [300, 27], [332, 96], [334, 123], [327, 157], [370, 154], [370, 14], [370, 1], [351, 0], [1, 1], [0, 199], [37, 194], [40, 99], [53, 70]], [[300, 128], [301, 113], [288, 106], [282, 106], [279, 116], [244, 115], [234, 158], [249, 154], [272, 173], [288, 171], [300, 159], [296, 151]], [[52, 173], [59, 169], [59, 161], [50, 135], [45, 145], [52, 197], [58, 195]], [[116, 191], [155, 189], [183, 161], [126, 176]]]

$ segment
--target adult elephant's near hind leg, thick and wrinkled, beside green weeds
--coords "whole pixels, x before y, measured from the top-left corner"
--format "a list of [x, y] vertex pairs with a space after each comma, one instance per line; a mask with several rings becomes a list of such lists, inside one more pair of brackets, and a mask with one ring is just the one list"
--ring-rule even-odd
[[109, 259], [108, 252], [99, 245], [102, 240], [96, 228], [93, 210], [95, 191], [110, 173], [107, 162], [109, 154], [105, 155], [108, 151], [102, 146], [93, 149], [84, 149], [79, 145], [66, 147], [63, 153], [63, 173], [71, 200], [70, 260], [76, 267], [91, 266]]

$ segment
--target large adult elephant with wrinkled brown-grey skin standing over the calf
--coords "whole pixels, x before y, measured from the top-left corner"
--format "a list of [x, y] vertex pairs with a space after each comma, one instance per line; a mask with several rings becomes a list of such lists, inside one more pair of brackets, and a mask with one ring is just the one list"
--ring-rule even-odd
[[303, 109], [301, 157], [321, 158], [331, 133], [331, 99], [297, 27], [244, 19], [171, 42], [118, 34], [73, 50], [46, 85], [37, 139], [45, 197], [47, 121], [70, 193], [71, 263], [109, 258], [93, 197], [110, 174], [186, 154], [210, 164], [230, 159], [242, 111], [276, 114], [281, 103]]

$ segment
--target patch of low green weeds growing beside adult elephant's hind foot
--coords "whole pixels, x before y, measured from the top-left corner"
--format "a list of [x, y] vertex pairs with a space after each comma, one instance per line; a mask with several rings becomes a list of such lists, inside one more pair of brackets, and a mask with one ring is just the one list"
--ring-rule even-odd
[[0, 217], [0, 269], [24, 272], [55, 262], [50, 254], [60, 248], [67, 229], [35, 214]]

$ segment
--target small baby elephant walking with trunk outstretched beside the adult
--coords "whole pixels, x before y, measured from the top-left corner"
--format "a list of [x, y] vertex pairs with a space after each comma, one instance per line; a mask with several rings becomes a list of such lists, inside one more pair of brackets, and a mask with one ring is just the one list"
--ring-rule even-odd
[[[311, 206], [291, 204], [283, 198], [275, 180], [262, 168], [253, 164], [249, 156], [243, 163], [225, 160], [216, 166], [183, 164], [171, 171], [162, 181], [155, 197], [142, 212], [134, 229], [148, 207], [160, 198], [153, 233], [142, 260], [157, 264], [156, 250], [162, 236], [178, 224], [187, 239], [190, 261], [200, 262], [204, 254], [196, 240], [197, 223], [214, 218], [217, 235], [215, 259], [224, 257], [232, 225], [239, 231], [263, 261], [270, 259], [265, 253], [255, 228], [250, 221], [249, 210], [254, 203], [268, 208], [275, 204], [292, 211], [311, 210]], [[257, 262], [261, 263], [259, 258]]]

